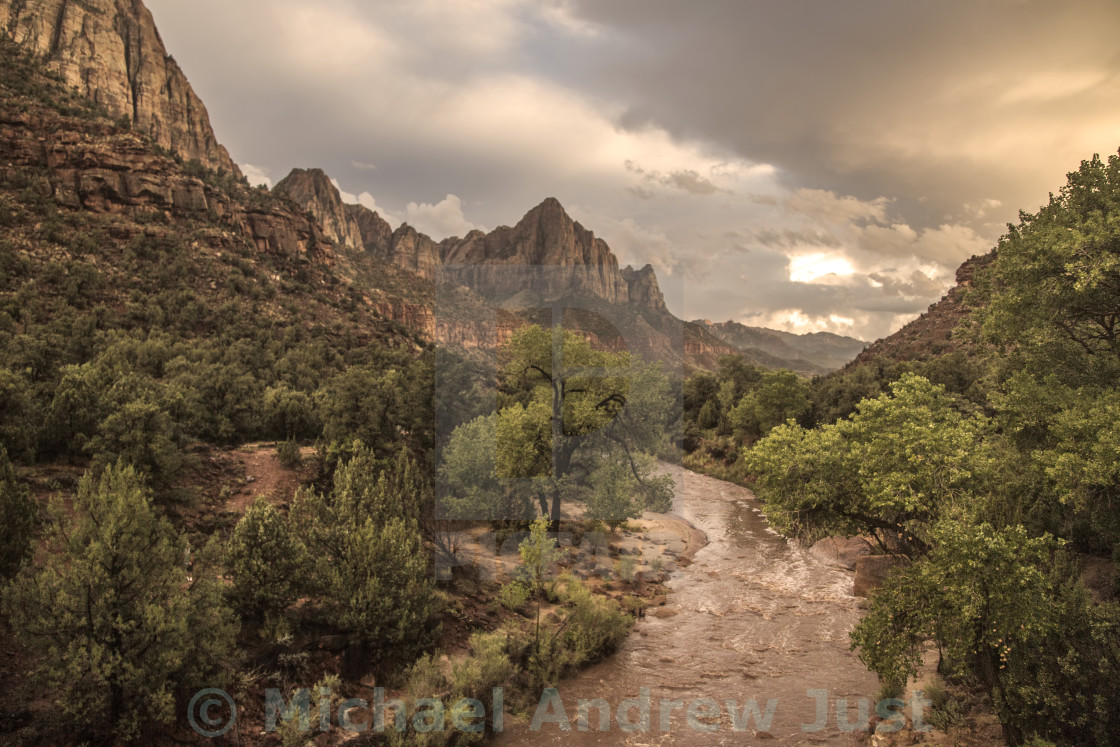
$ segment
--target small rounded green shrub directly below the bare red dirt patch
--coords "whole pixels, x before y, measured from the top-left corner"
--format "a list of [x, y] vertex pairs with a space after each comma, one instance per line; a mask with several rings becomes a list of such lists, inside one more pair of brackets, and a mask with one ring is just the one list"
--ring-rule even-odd
[[256, 619], [281, 614], [306, 586], [306, 549], [272, 504], [256, 498], [230, 538], [230, 598]]

